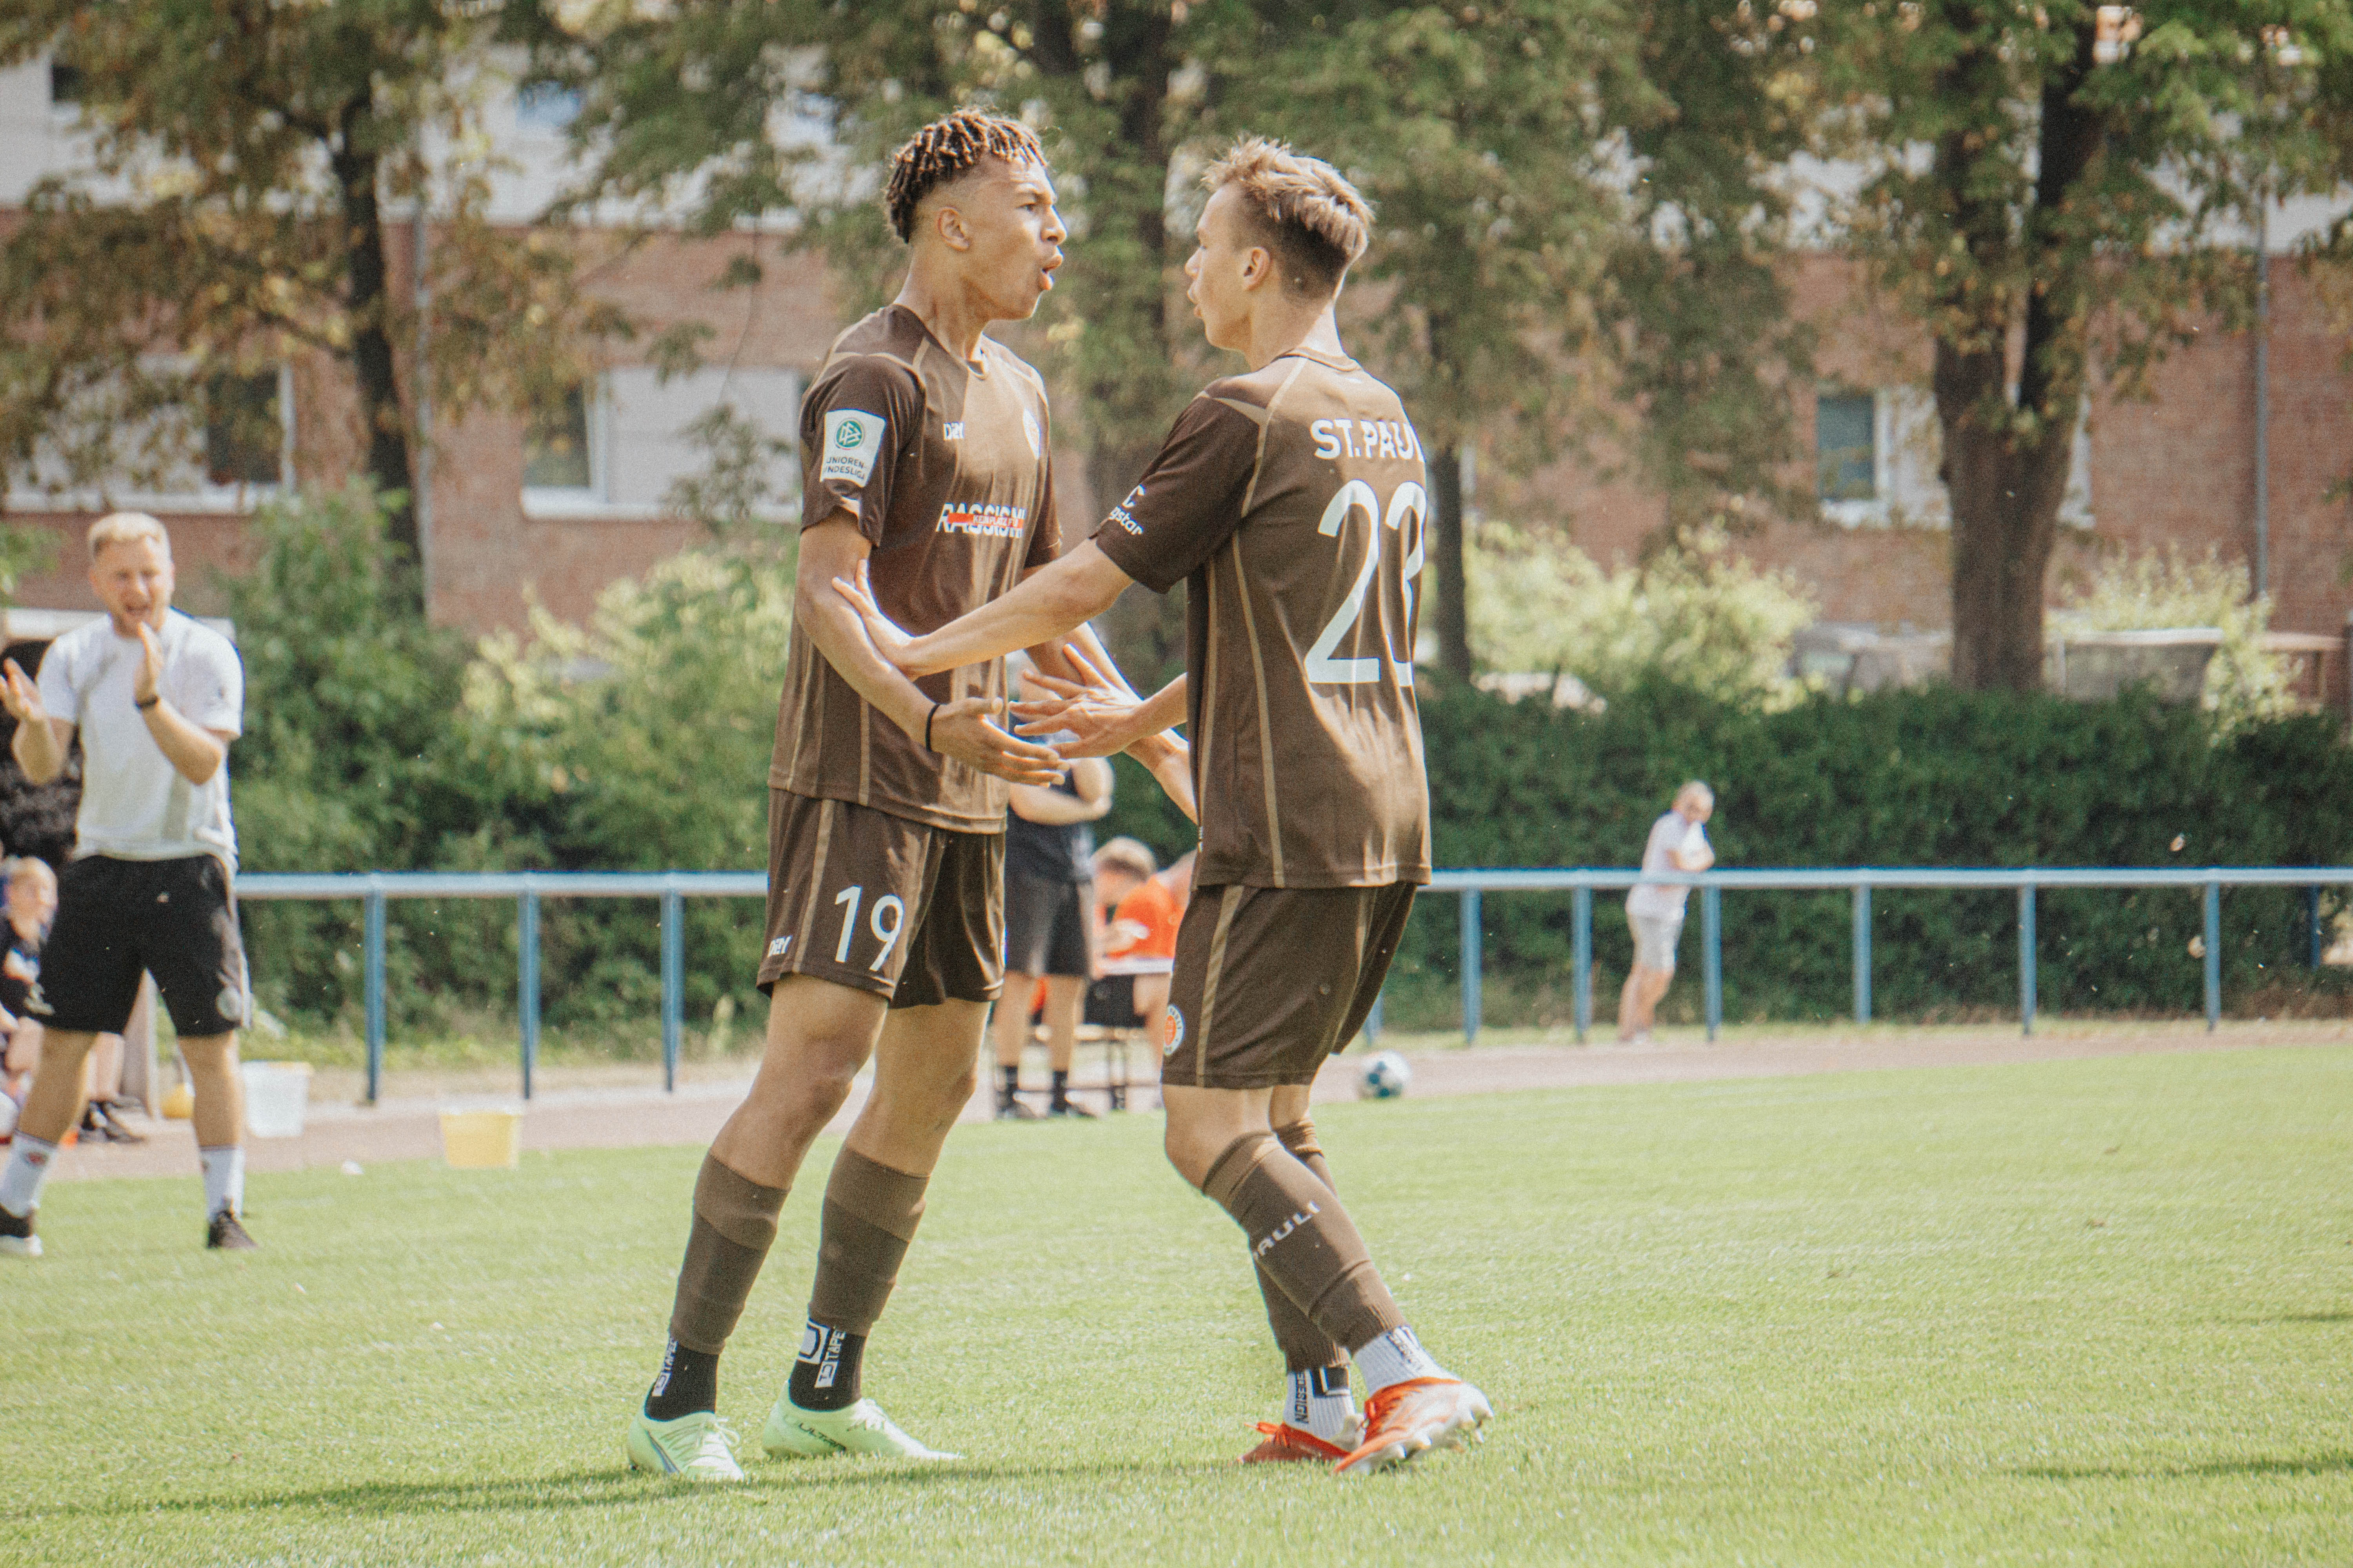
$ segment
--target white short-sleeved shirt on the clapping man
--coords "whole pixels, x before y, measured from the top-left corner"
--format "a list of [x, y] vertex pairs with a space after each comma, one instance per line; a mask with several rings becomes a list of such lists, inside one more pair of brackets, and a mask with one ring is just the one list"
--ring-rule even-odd
[[[162, 675], [155, 691], [195, 724], [245, 733], [245, 665], [238, 649], [209, 625], [165, 611]], [[40, 701], [52, 719], [82, 731], [82, 809], [73, 818], [80, 856], [118, 860], [181, 860], [219, 856], [238, 867], [238, 830], [228, 823], [228, 759], [193, 785], [148, 733], [134, 705], [144, 651], [136, 637], [115, 637], [99, 616], [49, 644], [40, 661]]]

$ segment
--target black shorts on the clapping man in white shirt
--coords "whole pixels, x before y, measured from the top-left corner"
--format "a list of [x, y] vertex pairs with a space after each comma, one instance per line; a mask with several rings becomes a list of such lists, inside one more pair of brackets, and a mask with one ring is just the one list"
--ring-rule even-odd
[[172, 1027], [188, 1039], [228, 1034], [252, 1018], [238, 896], [212, 856], [87, 856], [59, 875], [56, 922], [26, 1009], [52, 1030], [120, 1034], [141, 973], [155, 976]]

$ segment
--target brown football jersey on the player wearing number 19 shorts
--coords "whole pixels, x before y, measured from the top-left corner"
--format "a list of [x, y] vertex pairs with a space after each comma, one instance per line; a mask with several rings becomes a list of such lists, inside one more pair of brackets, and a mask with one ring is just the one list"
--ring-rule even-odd
[[[965, 362], [904, 306], [854, 324], [800, 400], [800, 517], [838, 512], [873, 545], [882, 614], [911, 632], [941, 628], [1052, 562], [1061, 534], [1038, 371], [988, 339]], [[1005, 696], [1005, 661], [915, 684], [941, 703]], [[911, 741], [800, 625], [767, 780], [955, 832], [1005, 830], [1005, 780]]]

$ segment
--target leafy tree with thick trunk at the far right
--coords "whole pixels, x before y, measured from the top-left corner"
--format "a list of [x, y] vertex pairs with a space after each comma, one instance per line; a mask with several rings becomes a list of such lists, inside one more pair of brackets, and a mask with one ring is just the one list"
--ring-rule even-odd
[[2353, 5], [1741, 0], [1748, 45], [1819, 38], [1849, 242], [1934, 339], [1953, 679], [2033, 689], [2085, 395], [2247, 324], [2264, 195], [2353, 176]]

